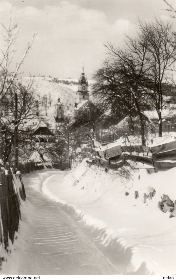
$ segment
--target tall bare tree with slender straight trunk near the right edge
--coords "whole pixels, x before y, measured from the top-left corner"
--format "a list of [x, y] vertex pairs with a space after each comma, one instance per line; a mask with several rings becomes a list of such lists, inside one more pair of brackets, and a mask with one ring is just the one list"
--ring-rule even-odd
[[153, 100], [158, 113], [159, 137], [162, 136], [163, 84], [173, 83], [172, 65], [176, 61], [176, 37], [172, 25], [156, 18], [151, 23], [140, 23], [141, 44], [148, 42], [146, 53], [149, 57], [150, 84]]

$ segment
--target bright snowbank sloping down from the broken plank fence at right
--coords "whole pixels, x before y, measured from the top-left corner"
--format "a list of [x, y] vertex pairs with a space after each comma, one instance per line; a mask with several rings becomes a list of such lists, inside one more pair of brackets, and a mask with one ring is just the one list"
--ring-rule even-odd
[[[99, 241], [105, 246], [112, 240], [124, 250], [132, 246], [133, 271], [144, 266], [141, 274], [175, 274], [176, 218], [161, 212], [158, 202], [163, 194], [176, 199], [176, 168], [151, 175], [146, 169], [129, 169], [124, 175], [130, 171], [132, 178], [126, 181], [117, 172], [88, 167], [84, 160], [65, 177], [53, 174], [47, 178], [43, 192], [74, 208], [84, 225], [102, 230]], [[154, 190], [154, 197], [146, 198]]]

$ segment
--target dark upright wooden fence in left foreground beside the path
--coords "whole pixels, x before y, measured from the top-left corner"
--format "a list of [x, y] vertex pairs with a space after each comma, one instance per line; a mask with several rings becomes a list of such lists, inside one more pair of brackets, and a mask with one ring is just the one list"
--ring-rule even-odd
[[9, 239], [13, 244], [15, 232], [18, 231], [20, 205], [26, 195], [21, 175], [15, 175], [12, 168], [6, 175], [1, 167], [0, 181], [0, 243], [7, 249]]

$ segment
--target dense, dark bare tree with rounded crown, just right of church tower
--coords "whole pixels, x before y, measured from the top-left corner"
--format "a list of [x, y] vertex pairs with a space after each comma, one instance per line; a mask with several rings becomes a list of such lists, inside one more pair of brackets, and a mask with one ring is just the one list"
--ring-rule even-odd
[[133, 130], [134, 102], [130, 94], [121, 91], [122, 85], [118, 78], [118, 71], [116, 66], [111, 64], [111, 60], [104, 62], [103, 67], [96, 71], [93, 79], [96, 80], [92, 88], [94, 97], [98, 97], [97, 106], [104, 111], [111, 110], [111, 120], [116, 119], [116, 123], [128, 115]]

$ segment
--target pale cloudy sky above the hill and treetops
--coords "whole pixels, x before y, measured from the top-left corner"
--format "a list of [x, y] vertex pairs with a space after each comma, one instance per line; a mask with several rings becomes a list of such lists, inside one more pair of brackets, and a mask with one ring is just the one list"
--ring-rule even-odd
[[105, 41], [123, 47], [124, 34], [135, 36], [138, 17], [147, 22], [154, 15], [172, 20], [163, 0], [1, 0], [1, 22], [8, 21], [12, 6], [20, 31], [11, 67], [37, 33], [22, 66], [25, 76], [78, 78], [84, 62], [91, 79], [106, 57]]

